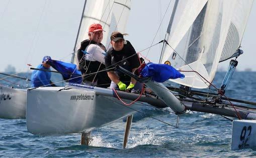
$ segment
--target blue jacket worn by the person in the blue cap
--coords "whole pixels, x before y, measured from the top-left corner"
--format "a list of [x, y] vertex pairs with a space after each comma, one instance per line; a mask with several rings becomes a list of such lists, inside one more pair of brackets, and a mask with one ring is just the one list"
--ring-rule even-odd
[[[50, 69], [50, 68], [45, 68], [43, 64], [38, 65], [36, 68], [47, 69], [47, 70]], [[31, 75], [32, 87], [39, 87], [39, 86], [50, 84], [50, 81], [51, 81], [51, 72], [48, 72], [48, 71], [34, 70]], [[51, 85], [47, 85], [47, 86], [51, 86]]]

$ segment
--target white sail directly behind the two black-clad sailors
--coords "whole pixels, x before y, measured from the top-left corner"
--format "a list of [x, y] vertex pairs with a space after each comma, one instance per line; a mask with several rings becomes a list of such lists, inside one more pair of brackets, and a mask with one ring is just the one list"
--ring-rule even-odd
[[76, 62], [76, 51], [80, 48], [80, 42], [88, 39], [88, 29], [92, 23], [100, 23], [103, 26], [105, 32], [102, 43], [108, 47], [112, 31], [125, 30], [130, 6], [131, 0], [85, 0], [71, 62]]

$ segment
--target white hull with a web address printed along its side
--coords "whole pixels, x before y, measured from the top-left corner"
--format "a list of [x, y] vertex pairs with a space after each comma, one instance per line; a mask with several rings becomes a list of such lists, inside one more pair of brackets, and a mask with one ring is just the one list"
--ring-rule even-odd
[[[115, 97], [99, 94], [112, 94], [112, 89], [72, 87], [58, 91], [61, 88], [28, 90], [26, 120], [29, 132], [65, 134], [90, 131], [136, 112]], [[142, 105], [136, 102], [129, 107], [138, 110]]]

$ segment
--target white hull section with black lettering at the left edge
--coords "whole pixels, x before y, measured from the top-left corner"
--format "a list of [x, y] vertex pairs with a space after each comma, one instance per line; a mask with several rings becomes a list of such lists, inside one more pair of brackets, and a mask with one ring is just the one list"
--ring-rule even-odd
[[0, 118], [25, 118], [27, 89], [0, 85]]

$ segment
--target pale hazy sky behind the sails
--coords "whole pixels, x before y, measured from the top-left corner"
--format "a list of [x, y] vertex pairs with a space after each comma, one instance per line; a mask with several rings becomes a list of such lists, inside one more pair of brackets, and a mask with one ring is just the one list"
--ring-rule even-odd
[[[150, 46], [168, 2], [132, 1], [126, 39], [132, 42], [136, 51]], [[0, 71], [8, 64], [14, 65], [17, 71], [27, 71], [27, 63], [36, 67], [44, 55], [70, 61], [83, 3], [84, 0], [0, 0]], [[238, 58], [239, 70], [256, 70], [255, 5], [254, 2], [242, 40], [244, 54]], [[164, 38], [171, 11], [172, 8], [167, 10], [153, 43]], [[147, 57], [158, 62], [161, 46], [152, 47]], [[143, 54], [147, 54], [147, 50]], [[226, 63], [220, 67], [226, 67]]]

